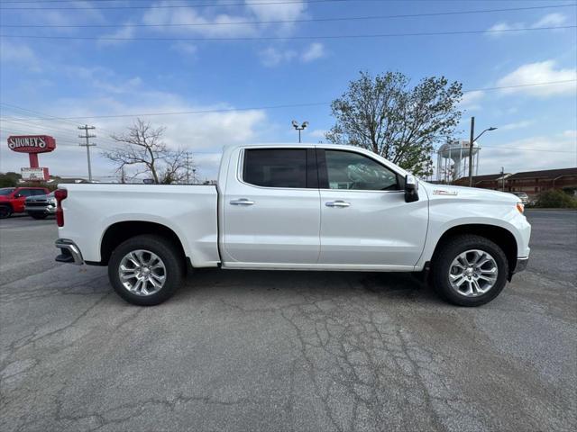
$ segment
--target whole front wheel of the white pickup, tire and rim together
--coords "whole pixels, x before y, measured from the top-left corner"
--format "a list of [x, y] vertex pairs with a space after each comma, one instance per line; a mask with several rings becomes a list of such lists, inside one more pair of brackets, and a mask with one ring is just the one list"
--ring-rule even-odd
[[507, 284], [508, 261], [488, 238], [463, 235], [450, 239], [432, 263], [435, 290], [459, 306], [481, 306]]

